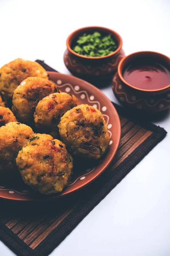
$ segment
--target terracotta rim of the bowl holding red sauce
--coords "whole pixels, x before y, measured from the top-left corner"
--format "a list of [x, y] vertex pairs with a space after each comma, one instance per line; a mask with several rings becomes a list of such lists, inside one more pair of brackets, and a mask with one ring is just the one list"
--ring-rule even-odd
[[[124, 84], [127, 84], [129, 87], [131, 87], [131, 88], [133, 88], [133, 89], [140, 90], [140, 91], [144, 91], [144, 92], [157, 92], [157, 91], [161, 91], [161, 90], [165, 90], [165, 89], [169, 88], [169, 87], [170, 87], [170, 84], [168, 84], [167, 86], [165, 86], [165, 87], [163, 87], [163, 88], [160, 88], [160, 89], [147, 90], [147, 89], [140, 89], [140, 88], [138, 88], [138, 87], [135, 87], [135, 86], [133, 86], [133, 85], [127, 83], [127, 81], [123, 78], [122, 70], [123, 70], [123, 68], [125, 67], [125, 64], [127, 64], [127, 62], [128, 62], [129, 60], [131, 61], [133, 57], [136, 58], [136, 56], [138, 56], [138, 55], [139, 55], [139, 57], [141, 57], [142, 55], [146, 55], [146, 56], [147, 56], [147, 55], [155, 55], [155, 56], [157, 56], [158, 58], [161, 57], [161, 59], [162, 59], [162, 58], [166, 59], [166, 60], [167, 60], [167, 63], [168, 63], [168, 62], [170, 63], [170, 58], [167, 57], [167, 56], [164, 55], [164, 54], [159, 53], [159, 52], [152, 52], [152, 51], [133, 52], [133, 53], [131, 53], [131, 54], [125, 56], [124, 58], [122, 58], [122, 60], [119, 62], [119, 65], [118, 65], [118, 75], [119, 75], [119, 78], [122, 80], [122, 82], [123, 82]], [[169, 66], [170, 66], [170, 64], [169, 64]]]

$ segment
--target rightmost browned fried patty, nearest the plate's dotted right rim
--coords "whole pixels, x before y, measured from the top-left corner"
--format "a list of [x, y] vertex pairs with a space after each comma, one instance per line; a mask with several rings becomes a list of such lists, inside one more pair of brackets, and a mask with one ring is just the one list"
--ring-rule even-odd
[[109, 145], [109, 134], [102, 113], [89, 105], [67, 111], [59, 122], [59, 134], [73, 155], [99, 159]]

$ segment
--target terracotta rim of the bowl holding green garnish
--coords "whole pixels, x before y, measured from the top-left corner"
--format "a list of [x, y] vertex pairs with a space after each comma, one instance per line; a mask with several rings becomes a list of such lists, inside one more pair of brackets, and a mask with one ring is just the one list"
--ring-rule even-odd
[[[81, 55], [81, 54], [78, 54], [77, 52], [74, 52], [74, 50], [71, 49], [71, 43], [73, 41], [73, 39], [78, 36], [79, 34], [85, 32], [85, 31], [88, 31], [88, 30], [91, 30], [91, 31], [95, 31], [95, 30], [100, 30], [100, 31], [105, 31], [106, 33], [108, 34], [112, 34], [113, 37], [116, 39], [117, 43], [118, 43], [118, 48], [116, 49], [116, 51], [108, 54], [108, 55], [105, 55], [105, 56], [100, 56], [100, 57], [90, 57], [90, 56], [84, 56], [84, 55]], [[77, 29], [75, 30], [74, 32], [72, 32], [68, 38], [67, 38], [67, 41], [66, 41], [66, 46], [67, 46], [67, 49], [69, 52], [73, 53], [74, 55], [78, 56], [78, 57], [81, 57], [81, 58], [85, 58], [85, 59], [103, 59], [103, 58], [108, 58], [112, 55], [115, 55], [117, 52], [120, 51], [120, 49], [122, 48], [122, 38], [121, 36], [115, 32], [114, 30], [112, 29], [108, 29], [108, 28], [105, 28], [105, 27], [102, 27], [102, 26], [87, 26], [87, 27], [83, 27], [83, 28], [80, 28], [80, 29]]]

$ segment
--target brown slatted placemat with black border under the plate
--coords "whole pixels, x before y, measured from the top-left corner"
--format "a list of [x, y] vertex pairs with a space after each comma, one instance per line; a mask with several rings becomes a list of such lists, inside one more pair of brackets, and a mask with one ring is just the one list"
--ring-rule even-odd
[[[40, 62], [39, 62], [40, 63]], [[40, 63], [46, 70], [50, 67]], [[52, 70], [54, 71], [54, 70]], [[108, 169], [90, 185], [46, 203], [0, 201], [0, 240], [19, 256], [47, 256], [86, 215], [154, 148], [167, 132], [139, 121], [114, 104], [122, 137]]]

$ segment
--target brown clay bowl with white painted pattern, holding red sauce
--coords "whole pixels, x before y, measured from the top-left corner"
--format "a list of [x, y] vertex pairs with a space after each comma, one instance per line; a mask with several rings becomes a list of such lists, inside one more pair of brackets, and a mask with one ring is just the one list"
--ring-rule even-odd
[[[135, 52], [123, 58], [118, 65], [118, 72], [113, 77], [112, 88], [116, 98], [124, 105], [147, 113], [157, 113], [170, 108], [170, 84], [156, 90], [144, 90], [128, 84], [123, 72], [128, 64], [139, 58], [153, 59], [164, 64], [170, 70], [170, 58], [157, 52]], [[160, 81], [161, 82], [161, 81]]]

